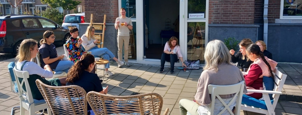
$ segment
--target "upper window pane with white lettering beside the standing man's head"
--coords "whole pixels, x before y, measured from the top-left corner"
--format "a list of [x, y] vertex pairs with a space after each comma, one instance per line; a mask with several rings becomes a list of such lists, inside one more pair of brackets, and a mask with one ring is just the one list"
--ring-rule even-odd
[[[136, 2], [135, 0], [121, 0], [121, 8], [126, 9], [126, 16], [129, 18], [136, 18]], [[120, 11], [119, 11], [120, 12]]]

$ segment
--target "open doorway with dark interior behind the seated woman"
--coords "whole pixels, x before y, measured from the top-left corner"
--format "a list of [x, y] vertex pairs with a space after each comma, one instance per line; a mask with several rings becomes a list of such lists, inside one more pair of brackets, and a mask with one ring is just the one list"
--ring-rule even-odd
[[145, 0], [145, 20], [149, 30], [144, 53], [147, 59], [160, 59], [172, 36], [179, 41], [179, 1]]

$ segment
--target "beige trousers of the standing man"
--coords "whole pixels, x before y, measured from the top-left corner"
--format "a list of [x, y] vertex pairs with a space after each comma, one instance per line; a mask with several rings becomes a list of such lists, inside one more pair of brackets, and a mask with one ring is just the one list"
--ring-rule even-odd
[[128, 48], [130, 36], [117, 36], [117, 57], [120, 61], [123, 60], [123, 43], [124, 43], [124, 60], [128, 62]]

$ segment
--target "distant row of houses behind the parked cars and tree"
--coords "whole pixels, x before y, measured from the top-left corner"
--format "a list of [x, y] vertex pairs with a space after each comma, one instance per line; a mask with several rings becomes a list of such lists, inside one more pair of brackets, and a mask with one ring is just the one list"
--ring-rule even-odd
[[[75, 10], [77, 10], [79, 13], [84, 12], [84, 0], [78, 1], [82, 1], [82, 3], [80, 3]], [[14, 0], [0, 0], [0, 3], [2, 4], [2, 8], [0, 8], [2, 14], [16, 14], [16, 10], [18, 9], [14, 8]], [[50, 6], [47, 4], [42, 4], [41, 0], [23, 0], [18, 14], [23, 14], [25, 11], [30, 11], [32, 14], [34, 14], [35, 10], [38, 10], [41, 13], [46, 8], [50, 8]], [[63, 10], [62, 7], [58, 7], [57, 9], [60, 13], [64, 14], [72, 14], [76, 12], [75, 10]]]

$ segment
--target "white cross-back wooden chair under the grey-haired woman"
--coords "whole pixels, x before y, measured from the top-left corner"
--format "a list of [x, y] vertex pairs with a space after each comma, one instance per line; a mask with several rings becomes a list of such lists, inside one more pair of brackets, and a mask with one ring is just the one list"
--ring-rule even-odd
[[[231, 115], [240, 115], [240, 105], [243, 95], [243, 88], [244, 88], [244, 81], [241, 81], [233, 85], [208, 85], [209, 94], [211, 94], [211, 103], [209, 105], [210, 107], [209, 107], [208, 115], [214, 114], [214, 109], [212, 108], [214, 108], [216, 97], [225, 106], [224, 109], [221, 110], [220, 113], [218, 113], [218, 115], [222, 114], [225, 110], [229, 111]], [[219, 96], [219, 95], [226, 95], [226, 94], [235, 94], [232, 100], [228, 104], [226, 104]], [[236, 106], [233, 113], [232, 110], [230, 109], [230, 106], [231, 104], [233, 104], [235, 99], [236, 99]], [[190, 113], [187, 112], [187, 115], [190, 115]]]

